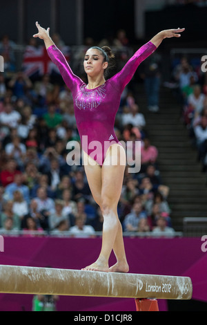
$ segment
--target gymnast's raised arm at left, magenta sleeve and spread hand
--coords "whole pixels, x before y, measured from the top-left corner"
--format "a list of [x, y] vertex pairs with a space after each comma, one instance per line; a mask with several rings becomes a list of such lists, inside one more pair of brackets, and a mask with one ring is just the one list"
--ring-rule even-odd
[[64, 82], [68, 86], [68, 88], [72, 91], [77, 85], [77, 83], [83, 83], [83, 81], [77, 77], [74, 73], [72, 73], [72, 70], [66, 61], [66, 58], [64, 57], [63, 53], [55, 46], [55, 43], [52, 41], [50, 37], [50, 28], [47, 29], [42, 28], [38, 22], [36, 21], [36, 26], [38, 29], [37, 34], [34, 34], [33, 37], [39, 37], [39, 39], [43, 39], [46, 49], [48, 51], [48, 55], [53, 63], [57, 65], [59, 68], [59, 71], [61, 73], [61, 76], [63, 77]]

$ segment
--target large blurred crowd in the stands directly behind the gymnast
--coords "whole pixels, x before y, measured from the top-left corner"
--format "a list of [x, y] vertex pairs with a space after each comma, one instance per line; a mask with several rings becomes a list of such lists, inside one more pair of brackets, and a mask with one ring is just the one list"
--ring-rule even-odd
[[[59, 39], [56, 44], [60, 49], [64, 46]], [[130, 52], [123, 30], [112, 44], [119, 49], [120, 68]], [[35, 49], [40, 53], [43, 45], [31, 40], [26, 46], [27, 59]], [[77, 62], [81, 62], [82, 54], [76, 56]], [[34, 232], [95, 236], [102, 230], [101, 210], [92, 198], [83, 166], [70, 166], [66, 161], [70, 151], [67, 143], [80, 143], [70, 90], [57, 71], [32, 74], [34, 66], [30, 66], [30, 75], [27, 69], [17, 71], [13, 42], [8, 37], [0, 42], [0, 55], [5, 62], [5, 71], [0, 74], [1, 234], [20, 230], [26, 231], [24, 236]], [[34, 57], [30, 63], [34, 63]], [[70, 64], [78, 66], [77, 62]], [[26, 67], [25, 62], [23, 66]], [[167, 201], [169, 188], [161, 181], [159, 153], [148, 138], [146, 127], [135, 94], [126, 88], [115, 132], [119, 140], [131, 144], [127, 149], [132, 152], [135, 141], [141, 142], [141, 170], [130, 173], [126, 166], [119, 219], [124, 232], [173, 234]]]

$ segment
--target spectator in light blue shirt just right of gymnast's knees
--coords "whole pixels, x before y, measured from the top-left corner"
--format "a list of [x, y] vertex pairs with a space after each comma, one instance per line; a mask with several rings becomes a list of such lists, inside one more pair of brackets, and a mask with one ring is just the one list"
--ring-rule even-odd
[[124, 219], [124, 231], [137, 232], [139, 221], [146, 219], [146, 212], [144, 212], [141, 203], [135, 203], [132, 205], [132, 212], [127, 214]]

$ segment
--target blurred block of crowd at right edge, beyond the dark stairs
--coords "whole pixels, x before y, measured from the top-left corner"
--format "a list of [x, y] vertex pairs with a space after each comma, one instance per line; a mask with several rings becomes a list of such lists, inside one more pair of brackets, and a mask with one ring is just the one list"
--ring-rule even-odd
[[181, 103], [181, 118], [188, 129], [201, 171], [207, 171], [207, 73], [199, 59], [181, 57], [172, 72]]

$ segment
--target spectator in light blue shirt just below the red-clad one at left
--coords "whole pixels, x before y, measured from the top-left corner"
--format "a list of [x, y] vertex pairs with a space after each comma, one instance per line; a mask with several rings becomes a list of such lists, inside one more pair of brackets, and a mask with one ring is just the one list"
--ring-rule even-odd
[[17, 174], [14, 176], [14, 182], [10, 183], [5, 188], [5, 197], [7, 200], [12, 200], [14, 191], [19, 191], [23, 195], [23, 199], [30, 202], [30, 190], [28, 186], [23, 185], [23, 175]]

